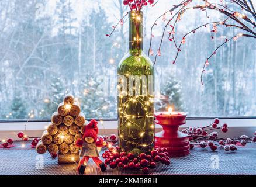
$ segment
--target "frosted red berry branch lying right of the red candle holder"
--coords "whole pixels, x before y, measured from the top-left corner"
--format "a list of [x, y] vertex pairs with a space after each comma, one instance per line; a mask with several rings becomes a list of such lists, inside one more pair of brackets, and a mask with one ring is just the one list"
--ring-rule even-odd
[[189, 140], [191, 141], [191, 149], [197, 145], [201, 148], [208, 146], [213, 151], [217, 150], [218, 147], [223, 148], [225, 151], [234, 151], [237, 150], [236, 145], [245, 146], [247, 143], [256, 143], [256, 131], [253, 137], [242, 135], [240, 138], [220, 138], [216, 131], [209, 132], [221, 129], [223, 133], [226, 133], [228, 131], [228, 125], [224, 123], [218, 127], [219, 123], [219, 119], [214, 119], [213, 123], [208, 126], [189, 127], [182, 130], [182, 133], [188, 134]]

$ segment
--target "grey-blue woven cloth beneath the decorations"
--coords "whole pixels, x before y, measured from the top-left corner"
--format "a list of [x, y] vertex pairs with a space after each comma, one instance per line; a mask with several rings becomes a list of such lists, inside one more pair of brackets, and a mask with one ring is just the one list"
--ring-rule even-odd
[[[43, 159], [43, 169], [37, 169]], [[219, 160], [219, 168], [216, 163]], [[41, 160], [42, 161], [42, 160]], [[0, 149], [0, 175], [77, 175], [76, 164], [59, 165], [49, 154], [39, 155], [25, 147]], [[212, 168], [213, 167], [213, 168]], [[137, 171], [110, 169], [100, 172], [90, 160], [85, 175], [140, 175]], [[238, 147], [237, 151], [210, 151], [194, 148], [186, 157], [171, 158], [171, 165], [160, 165], [148, 175], [256, 175], [256, 147]]]

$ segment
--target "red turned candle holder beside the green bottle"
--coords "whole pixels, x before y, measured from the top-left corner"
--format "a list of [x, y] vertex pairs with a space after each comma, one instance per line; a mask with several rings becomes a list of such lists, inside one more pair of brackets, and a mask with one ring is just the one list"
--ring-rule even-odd
[[166, 147], [170, 157], [184, 157], [189, 155], [190, 142], [187, 134], [178, 128], [186, 124], [184, 112], [155, 113], [155, 123], [162, 126], [162, 131], [155, 134], [155, 146]]

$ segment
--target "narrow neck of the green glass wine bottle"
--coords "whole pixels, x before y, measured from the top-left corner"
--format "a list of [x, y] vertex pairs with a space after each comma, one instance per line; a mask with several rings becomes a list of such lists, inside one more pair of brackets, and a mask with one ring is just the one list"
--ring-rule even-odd
[[129, 52], [137, 56], [143, 51], [143, 12], [129, 12]]

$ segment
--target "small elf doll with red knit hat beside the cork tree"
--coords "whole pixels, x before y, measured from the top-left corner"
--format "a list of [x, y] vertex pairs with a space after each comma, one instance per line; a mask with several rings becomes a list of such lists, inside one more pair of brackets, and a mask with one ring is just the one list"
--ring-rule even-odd
[[89, 158], [92, 158], [95, 164], [101, 168], [102, 172], [106, 171], [105, 163], [99, 159], [98, 147], [102, 147], [102, 140], [97, 141], [99, 132], [97, 124], [98, 122], [96, 122], [96, 120], [91, 120], [91, 122], [85, 126], [84, 136], [82, 139], [78, 139], [76, 142], [76, 145], [81, 147], [79, 155], [81, 159], [77, 167], [77, 171], [80, 174], [84, 174]]

